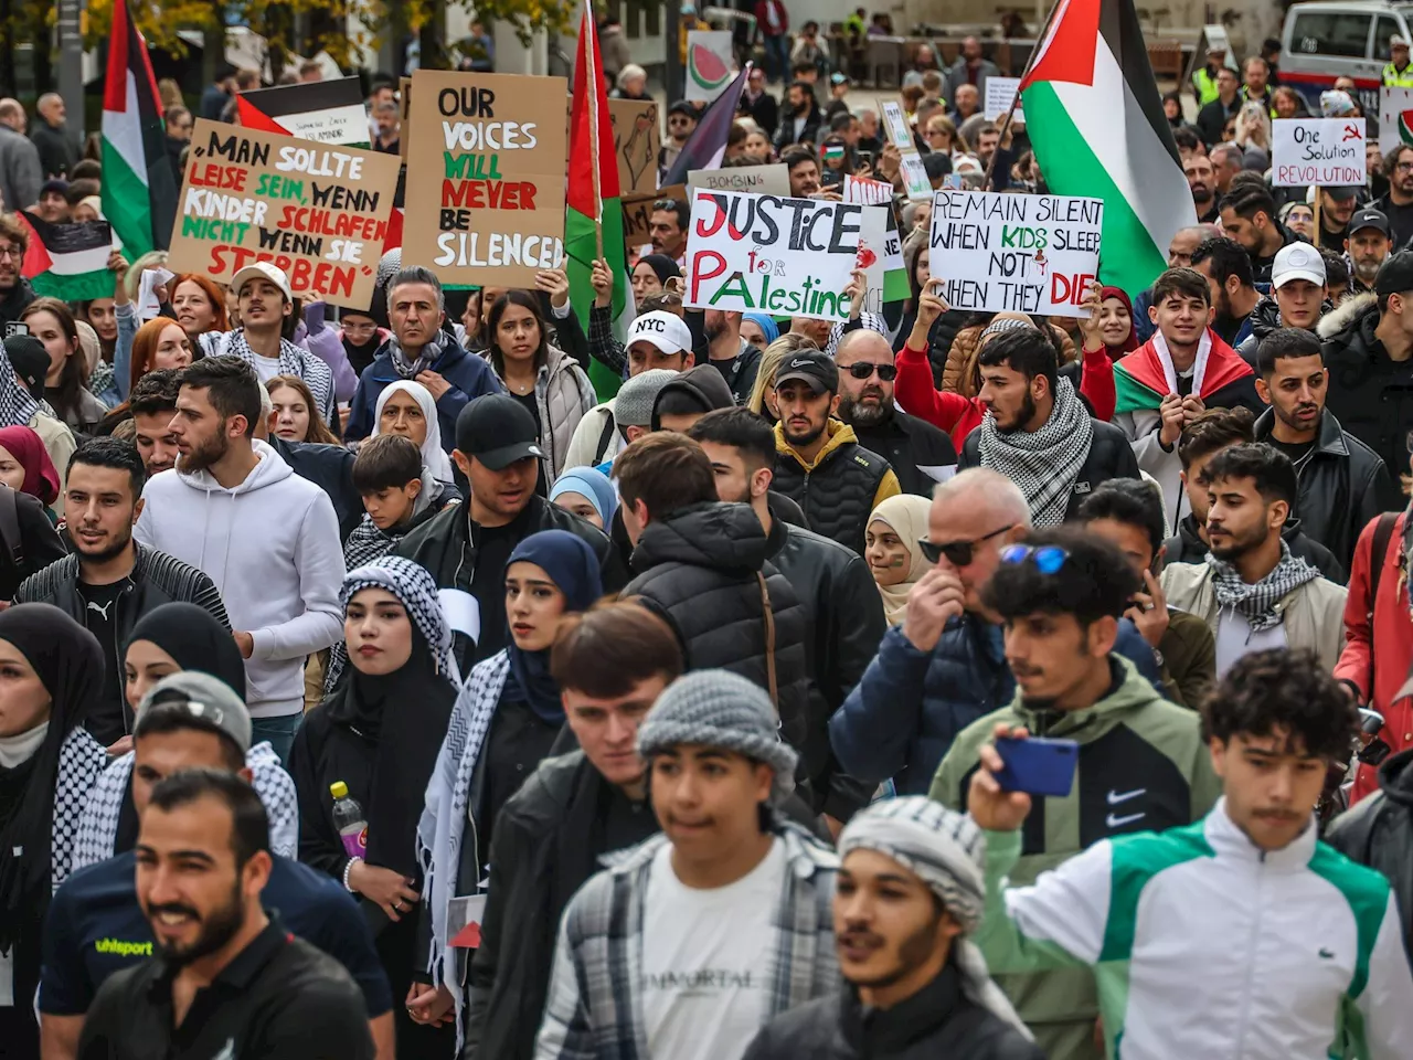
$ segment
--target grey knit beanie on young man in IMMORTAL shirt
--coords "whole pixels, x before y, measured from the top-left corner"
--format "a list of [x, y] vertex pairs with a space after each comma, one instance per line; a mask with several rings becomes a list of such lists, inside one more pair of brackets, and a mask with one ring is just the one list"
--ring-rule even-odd
[[637, 753], [650, 760], [680, 743], [733, 750], [776, 773], [771, 801], [794, 790], [798, 756], [780, 741], [766, 690], [729, 670], [695, 670], [657, 697], [637, 731]]

